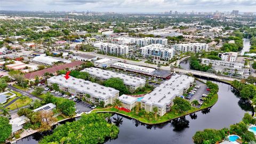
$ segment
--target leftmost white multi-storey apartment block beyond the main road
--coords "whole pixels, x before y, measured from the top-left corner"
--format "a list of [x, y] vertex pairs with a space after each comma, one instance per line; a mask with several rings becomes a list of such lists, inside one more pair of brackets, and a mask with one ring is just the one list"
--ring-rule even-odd
[[100, 43], [99, 49], [103, 53], [114, 55], [127, 55], [129, 53], [129, 47], [127, 45]]

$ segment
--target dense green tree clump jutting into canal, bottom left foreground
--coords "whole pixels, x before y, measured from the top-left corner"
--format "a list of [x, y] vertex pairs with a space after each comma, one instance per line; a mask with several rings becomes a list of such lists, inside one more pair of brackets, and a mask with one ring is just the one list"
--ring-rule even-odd
[[67, 122], [53, 130], [39, 143], [103, 143], [106, 138], [115, 139], [119, 133], [116, 125], [108, 123], [109, 114], [83, 115], [75, 122]]

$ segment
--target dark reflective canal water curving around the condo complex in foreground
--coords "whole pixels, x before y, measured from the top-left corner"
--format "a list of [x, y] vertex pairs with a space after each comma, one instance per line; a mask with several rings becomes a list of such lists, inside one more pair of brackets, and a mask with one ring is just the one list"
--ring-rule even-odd
[[[196, 131], [229, 127], [241, 121], [246, 111], [252, 114], [250, 105], [240, 100], [230, 85], [215, 83], [219, 85], [219, 99], [213, 107], [171, 122], [147, 125], [131, 118], [113, 115], [115, 118], [122, 118], [118, 122], [120, 132], [116, 139], [105, 143], [193, 143], [192, 137]], [[17, 143], [38, 143], [41, 138], [42, 135], [37, 133]]]

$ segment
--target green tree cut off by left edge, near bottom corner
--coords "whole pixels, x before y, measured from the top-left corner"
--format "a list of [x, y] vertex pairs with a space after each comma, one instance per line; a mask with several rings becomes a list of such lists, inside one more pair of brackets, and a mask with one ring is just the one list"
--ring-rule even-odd
[[9, 119], [0, 116], [0, 143], [4, 143], [12, 133], [12, 125], [9, 124]]

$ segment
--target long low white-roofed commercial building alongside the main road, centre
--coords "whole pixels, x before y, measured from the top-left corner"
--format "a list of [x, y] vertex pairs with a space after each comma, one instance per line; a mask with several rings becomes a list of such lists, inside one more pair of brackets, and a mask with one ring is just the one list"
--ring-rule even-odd
[[156, 69], [154, 68], [147, 68], [147, 67], [141, 67], [137, 65], [130, 65], [128, 63], [123, 62], [116, 62], [111, 65], [111, 67], [118, 68], [118, 69], [124, 69], [128, 71], [133, 71], [135, 73], [141, 73], [141, 74], [147, 74], [150, 75], [154, 73]]

